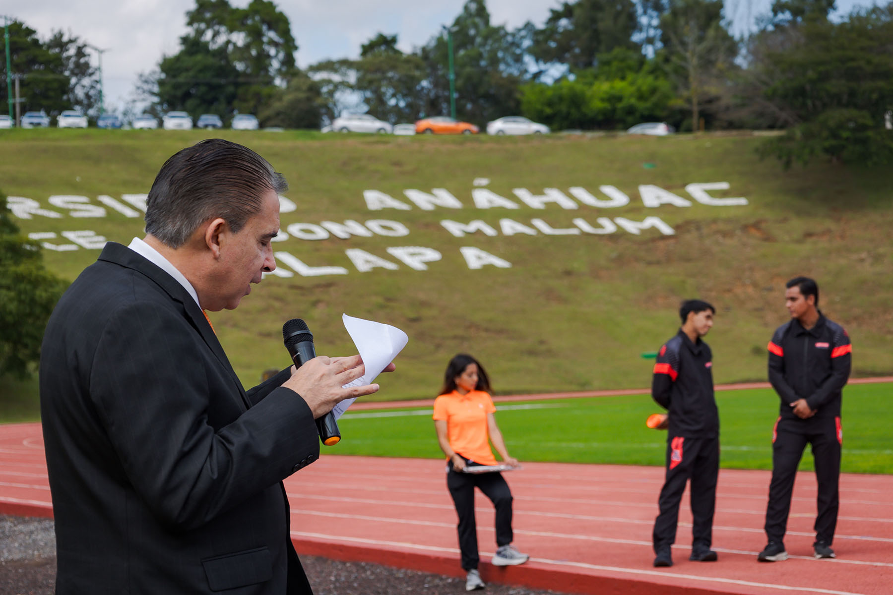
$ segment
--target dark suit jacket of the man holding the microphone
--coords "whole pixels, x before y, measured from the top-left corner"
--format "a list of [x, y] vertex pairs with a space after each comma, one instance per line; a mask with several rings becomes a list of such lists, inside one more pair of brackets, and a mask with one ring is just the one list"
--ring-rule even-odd
[[107, 244], [41, 351], [56, 592], [311, 592], [281, 482], [320, 446], [287, 378], [246, 393], [183, 286]]

